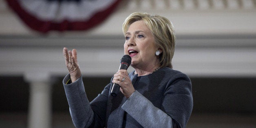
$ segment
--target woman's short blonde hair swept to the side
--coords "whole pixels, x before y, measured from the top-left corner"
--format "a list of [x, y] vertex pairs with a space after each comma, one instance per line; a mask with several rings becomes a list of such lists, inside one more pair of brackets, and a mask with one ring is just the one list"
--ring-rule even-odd
[[[174, 26], [165, 17], [160, 15], [150, 15], [148, 13], [132, 13], [123, 23], [123, 33], [128, 31], [130, 25], [136, 21], [142, 20], [154, 35], [156, 46], [163, 50], [160, 54], [160, 67], [172, 68], [172, 57], [175, 49]], [[155, 51], [154, 51], [155, 52]]]

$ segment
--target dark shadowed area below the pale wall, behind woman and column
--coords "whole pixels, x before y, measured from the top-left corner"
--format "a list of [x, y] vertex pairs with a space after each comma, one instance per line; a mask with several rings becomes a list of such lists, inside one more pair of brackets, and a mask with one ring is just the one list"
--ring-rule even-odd
[[[62, 85], [63, 77], [58, 77], [57, 82], [52, 85], [52, 121], [55, 128], [59, 126], [58, 123], [68, 123], [70, 126], [66, 125], [67, 127], [73, 127]], [[89, 101], [101, 93], [110, 82], [111, 77], [83, 78], [84, 83], [86, 83], [85, 89]], [[247, 128], [250, 126], [253, 128], [256, 125], [256, 78], [191, 77], [191, 81], [194, 108], [188, 128], [196, 127], [200, 123], [199, 126], [204, 126], [203, 123], [207, 121], [213, 124], [216, 122], [240, 123], [235, 126], [242, 125], [243, 127], [245, 125]], [[26, 126], [29, 83], [25, 82], [22, 76], [2, 76], [0, 82], [1, 120], [7, 124], [17, 120], [21, 121], [20, 124]]]

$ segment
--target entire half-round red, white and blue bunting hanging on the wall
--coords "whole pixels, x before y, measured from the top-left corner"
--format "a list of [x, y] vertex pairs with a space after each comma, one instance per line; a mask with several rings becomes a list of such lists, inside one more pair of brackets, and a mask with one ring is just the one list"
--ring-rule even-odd
[[121, 0], [6, 0], [31, 29], [83, 31], [103, 22]]

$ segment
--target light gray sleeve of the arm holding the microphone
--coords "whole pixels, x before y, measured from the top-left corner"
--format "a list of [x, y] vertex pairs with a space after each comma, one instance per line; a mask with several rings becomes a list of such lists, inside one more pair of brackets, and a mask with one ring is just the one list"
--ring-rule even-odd
[[137, 90], [123, 104], [122, 109], [144, 128], [172, 128], [172, 118], [155, 107]]

